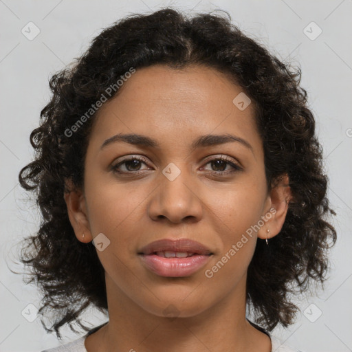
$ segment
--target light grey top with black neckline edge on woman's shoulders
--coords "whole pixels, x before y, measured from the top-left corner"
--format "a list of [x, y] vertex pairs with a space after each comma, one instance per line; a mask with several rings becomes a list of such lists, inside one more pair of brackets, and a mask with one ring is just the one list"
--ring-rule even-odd
[[[252, 325], [254, 325], [252, 322], [250, 322]], [[44, 351], [41, 352], [87, 352], [87, 349], [85, 349], [85, 339], [87, 336], [89, 336], [91, 333], [94, 333], [100, 327], [104, 326], [107, 324], [107, 322], [104, 322], [104, 324], [99, 325], [98, 327], [95, 327], [94, 329], [91, 329], [88, 331], [88, 333], [85, 334], [85, 336], [82, 336], [81, 338], [78, 338], [78, 340], [74, 340], [72, 342], [69, 342], [67, 344], [62, 344], [61, 346], [54, 347], [53, 349], [45, 349]], [[267, 331], [265, 331], [263, 328], [258, 327], [257, 325], [254, 325], [257, 329], [260, 331], [263, 331], [266, 333], [268, 336], [270, 336], [270, 339], [272, 340], [272, 352], [303, 352], [298, 349], [293, 349], [292, 347], [289, 347], [287, 345], [284, 345], [280, 340], [275, 338], [274, 336], [271, 336]]]

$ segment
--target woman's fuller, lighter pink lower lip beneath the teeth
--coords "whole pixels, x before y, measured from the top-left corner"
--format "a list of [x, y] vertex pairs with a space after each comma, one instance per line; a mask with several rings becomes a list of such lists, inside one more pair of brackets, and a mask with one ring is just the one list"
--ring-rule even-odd
[[140, 255], [142, 263], [159, 276], [179, 277], [195, 274], [210, 259], [210, 256], [195, 254], [187, 258], [164, 258], [156, 254]]

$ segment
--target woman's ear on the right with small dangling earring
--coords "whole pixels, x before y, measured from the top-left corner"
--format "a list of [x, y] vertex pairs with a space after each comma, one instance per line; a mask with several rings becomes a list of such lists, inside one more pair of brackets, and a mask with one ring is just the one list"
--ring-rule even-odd
[[292, 197], [288, 175], [284, 174], [278, 177], [268, 195], [265, 213], [262, 217], [264, 224], [257, 233], [260, 239], [270, 239], [281, 231]]

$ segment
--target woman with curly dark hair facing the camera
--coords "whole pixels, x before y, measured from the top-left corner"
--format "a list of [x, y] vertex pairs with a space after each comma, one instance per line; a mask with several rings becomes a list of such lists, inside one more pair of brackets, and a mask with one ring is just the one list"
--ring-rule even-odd
[[[52, 77], [19, 175], [43, 214], [23, 263], [45, 329], [88, 333], [48, 351], [294, 351], [270, 331], [336, 241], [299, 83], [229, 20], [171, 8]], [[109, 321], [89, 331], [90, 304]]]

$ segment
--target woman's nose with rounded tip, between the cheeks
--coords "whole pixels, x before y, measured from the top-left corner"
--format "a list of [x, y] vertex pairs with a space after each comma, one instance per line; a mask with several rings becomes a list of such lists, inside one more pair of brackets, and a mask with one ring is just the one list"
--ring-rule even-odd
[[148, 215], [154, 221], [171, 223], [197, 222], [203, 213], [199, 188], [186, 171], [173, 180], [160, 174], [160, 184], [148, 204]]

